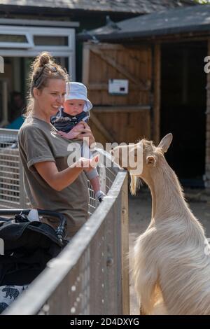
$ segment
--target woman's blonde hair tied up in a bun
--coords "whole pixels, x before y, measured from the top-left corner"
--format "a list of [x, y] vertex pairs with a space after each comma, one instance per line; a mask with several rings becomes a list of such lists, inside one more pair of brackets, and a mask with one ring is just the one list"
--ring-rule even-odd
[[62, 66], [55, 63], [55, 59], [50, 55], [50, 52], [41, 52], [31, 64], [29, 93], [27, 97], [28, 105], [25, 112], [26, 117], [29, 116], [29, 113], [34, 107], [34, 87], [38, 90], [43, 90], [44, 87], [48, 86], [49, 79], [62, 79], [68, 82], [69, 76]]

